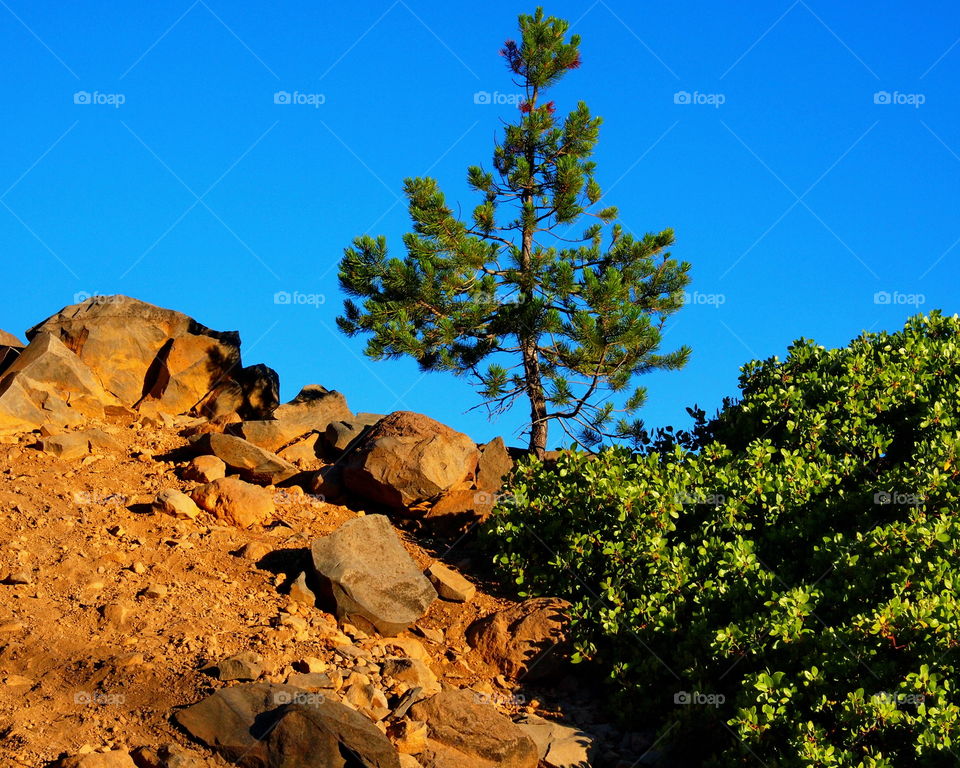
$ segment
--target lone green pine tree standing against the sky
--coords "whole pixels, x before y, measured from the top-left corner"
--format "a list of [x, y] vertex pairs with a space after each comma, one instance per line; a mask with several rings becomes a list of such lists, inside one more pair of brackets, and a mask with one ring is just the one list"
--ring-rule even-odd
[[406, 256], [388, 257], [382, 236], [358, 237], [339, 273], [360, 303], [345, 301], [337, 324], [371, 334], [368, 356], [409, 355], [423, 370], [470, 376], [491, 413], [525, 397], [537, 453], [551, 421], [586, 446], [641, 435], [642, 422], [627, 418], [645, 399], [643, 388], [630, 391], [633, 377], [678, 369], [689, 356], [686, 347], [659, 352], [689, 282], [690, 265], [667, 251], [673, 230], [624, 232], [617, 209], [598, 205], [590, 158], [600, 118], [580, 102], [561, 121], [543, 100], [580, 66], [580, 38], [567, 39], [568, 29], [538, 8], [520, 16], [520, 42], [504, 45], [523, 90], [520, 117], [505, 126], [493, 171], [468, 170], [483, 197], [471, 220], [454, 213], [436, 180], [408, 178]]

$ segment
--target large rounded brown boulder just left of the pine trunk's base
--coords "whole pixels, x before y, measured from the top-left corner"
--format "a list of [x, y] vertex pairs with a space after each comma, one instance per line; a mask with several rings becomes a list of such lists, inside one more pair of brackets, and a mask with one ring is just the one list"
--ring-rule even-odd
[[344, 462], [344, 482], [369, 501], [409, 508], [470, 480], [479, 455], [466, 435], [422, 414], [396, 411], [361, 438]]

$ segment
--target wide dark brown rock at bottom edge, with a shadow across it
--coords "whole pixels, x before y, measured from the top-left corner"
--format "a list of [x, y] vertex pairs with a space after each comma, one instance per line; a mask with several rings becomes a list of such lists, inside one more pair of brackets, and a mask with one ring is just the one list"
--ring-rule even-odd
[[179, 710], [174, 719], [244, 768], [343, 768], [341, 747], [369, 768], [400, 767], [396, 750], [370, 720], [292, 686], [231, 686]]

